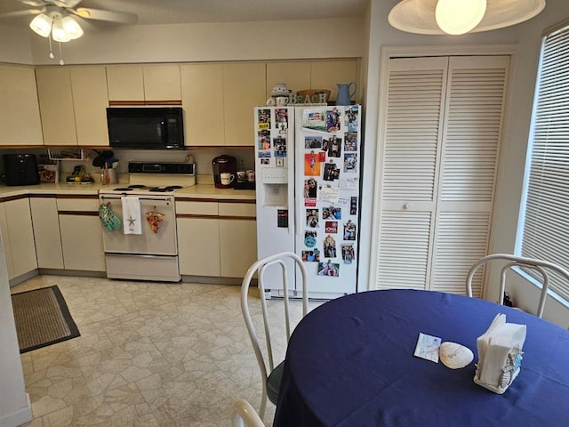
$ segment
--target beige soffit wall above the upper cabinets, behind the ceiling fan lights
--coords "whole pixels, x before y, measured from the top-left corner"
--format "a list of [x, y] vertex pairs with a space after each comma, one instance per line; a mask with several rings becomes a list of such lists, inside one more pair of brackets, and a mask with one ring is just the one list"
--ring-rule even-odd
[[[35, 64], [57, 64], [46, 39], [30, 38]], [[85, 28], [61, 46], [66, 64], [352, 58], [362, 56], [363, 29], [353, 19], [118, 26]]]

